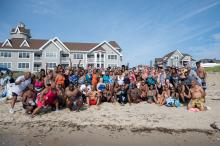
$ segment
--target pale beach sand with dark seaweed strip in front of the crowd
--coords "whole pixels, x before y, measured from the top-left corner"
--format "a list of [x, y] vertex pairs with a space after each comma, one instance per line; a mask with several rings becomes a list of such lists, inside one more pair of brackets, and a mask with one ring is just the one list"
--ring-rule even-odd
[[0, 104], [0, 145], [220, 145], [220, 74], [208, 74], [205, 112], [155, 104], [104, 103], [80, 112], [68, 109], [25, 115], [21, 103], [15, 114]]

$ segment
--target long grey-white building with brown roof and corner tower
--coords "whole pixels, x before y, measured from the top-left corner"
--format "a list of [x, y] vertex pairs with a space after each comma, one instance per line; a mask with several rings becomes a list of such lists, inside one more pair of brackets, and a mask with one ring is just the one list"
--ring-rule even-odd
[[49, 40], [32, 39], [30, 29], [19, 23], [10, 32], [11, 38], [0, 42], [0, 66], [15, 71], [38, 71], [61, 64], [87, 67], [121, 66], [122, 49], [115, 41], [101, 43], [62, 42], [58, 37]]

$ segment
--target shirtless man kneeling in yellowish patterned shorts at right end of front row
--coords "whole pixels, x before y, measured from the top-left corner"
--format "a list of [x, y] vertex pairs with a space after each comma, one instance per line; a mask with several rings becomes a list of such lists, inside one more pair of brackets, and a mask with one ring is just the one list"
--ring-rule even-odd
[[198, 108], [200, 111], [204, 111], [204, 102], [202, 101], [204, 97], [205, 92], [202, 87], [197, 85], [195, 80], [192, 80], [189, 90], [189, 98], [191, 98], [191, 101], [188, 104], [188, 110], [191, 108]]

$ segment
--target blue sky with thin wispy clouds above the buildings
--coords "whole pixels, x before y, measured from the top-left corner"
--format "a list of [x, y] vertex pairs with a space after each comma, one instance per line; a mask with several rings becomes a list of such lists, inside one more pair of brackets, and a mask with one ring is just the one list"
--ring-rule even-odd
[[1, 42], [20, 21], [36, 39], [114, 40], [124, 64], [149, 64], [176, 49], [220, 59], [220, 0], [1, 0]]

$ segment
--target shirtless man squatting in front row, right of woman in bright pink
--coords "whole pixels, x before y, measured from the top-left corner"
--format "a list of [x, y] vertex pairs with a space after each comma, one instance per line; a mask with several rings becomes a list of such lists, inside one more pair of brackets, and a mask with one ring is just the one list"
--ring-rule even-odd
[[69, 84], [65, 89], [65, 98], [67, 102], [67, 107], [70, 111], [79, 111], [83, 106], [83, 99], [81, 91], [77, 86], [74, 87], [73, 84]]

